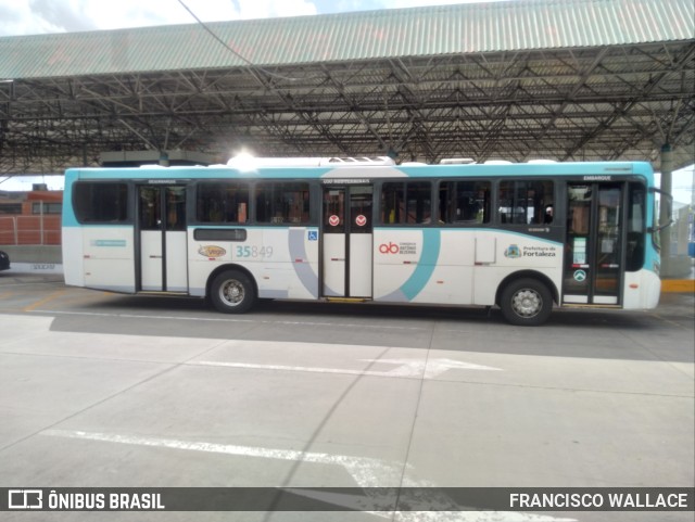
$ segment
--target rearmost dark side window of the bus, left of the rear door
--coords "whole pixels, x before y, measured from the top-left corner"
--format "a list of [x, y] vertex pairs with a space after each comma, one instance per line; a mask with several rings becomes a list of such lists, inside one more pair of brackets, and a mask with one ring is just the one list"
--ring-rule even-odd
[[128, 220], [128, 186], [113, 182], [75, 183], [73, 206], [83, 224], [119, 224]]

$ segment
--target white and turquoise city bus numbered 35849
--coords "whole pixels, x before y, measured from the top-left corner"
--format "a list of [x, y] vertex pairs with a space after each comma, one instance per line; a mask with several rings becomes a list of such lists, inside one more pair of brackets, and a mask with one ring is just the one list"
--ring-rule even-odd
[[68, 285], [207, 298], [554, 307], [658, 304], [658, 189], [648, 163], [257, 158], [73, 168]]

